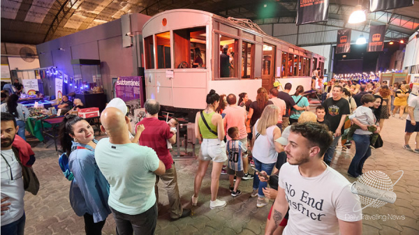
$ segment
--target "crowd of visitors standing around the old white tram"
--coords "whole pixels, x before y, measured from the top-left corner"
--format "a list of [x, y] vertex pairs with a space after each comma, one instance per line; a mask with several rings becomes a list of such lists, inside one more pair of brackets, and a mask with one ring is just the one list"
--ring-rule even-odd
[[[219, 95], [211, 90], [207, 94], [207, 106], [195, 119], [200, 151], [191, 205], [199, 204], [200, 188], [212, 161], [211, 209], [227, 205], [217, 198], [220, 174], [225, 172], [232, 197], [242, 194], [242, 180], [253, 179], [249, 193], [258, 197], [257, 207], [274, 199], [267, 215], [267, 234], [361, 234], [358, 196], [351, 192], [351, 183], [330, 167], [335, 149], [340, 139], [343, 149], [355, 143], [348, 176], [361, 176], [385, 119], [391, 110], [394, 116], [397, 108], [408, 105], [404, 149], [419, 153], [419, 135], [416, 148], [409, 146], [411, 134], [419, 132], [419, 98], [410, 98], [407, 104], [409, 86], [403, 84], [331, 81], [321, 88], [325, 100], [310, 112], [303, 86], [297, 86], [293, 95], [291, 89], [291, 83], [285, 84], [284, 91], [261, 87], [253, 102], [247, 93], [240, 93], [238, 100], [233, 93]], [[74, 100], [74, 109], [82, 107], [79, 101]], [[73, 106], [68, 97], [60, 105], [61, 109]], [[21, 158], [19, 146], [13, 144], [24, 130], [24, 113], [29, 113], [21, 109], [14, 95], [1, 105], [2, 234], [23, 234], [24, 229], [22, 163], [30, 167], [34, 160]], [[191, 215], [191, 208], [180, 202], [170, 155], [177, 119], [159, 120], [160, 105], [150, 99], [145, 102], [145, 118], [132, 131], [127, 112], [123, 100], [110, 101], [101, 113], [101, 131], [108, 137], [99, 141], [89, 123], [73, 114], [59, 128], [72, 174], [71, 206], [84, 218], [86, 234], [101, 234], [111, 213], [118, 234], [154, 234], [159, 181], [168, 194], [170, 218]], [[402, 114], [400, 111], [401, 119]], [[249, 174], [250, 166], [255, 175]], [[326, 182], [327, 188], [323, 187]]]

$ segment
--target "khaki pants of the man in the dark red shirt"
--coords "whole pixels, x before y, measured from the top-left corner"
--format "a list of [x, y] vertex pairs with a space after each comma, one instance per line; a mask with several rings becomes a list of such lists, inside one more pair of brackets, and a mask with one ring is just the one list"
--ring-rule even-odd
[[172, 164], [172, 168], [166, 169], [166, 172], [163, 175], [156, 176], [156, 185], [154, 185], [154, 190], [156, 192], [157, 204], [159, 203], [159, 188], [157, 187], [159, 181], [164, 184], [164, 189], [166, 189], [166, 192], [168, 192], [170, 218], [179, 218], [180, 215], [182, 215], [183, 209], [180, 205], [175, 164]]

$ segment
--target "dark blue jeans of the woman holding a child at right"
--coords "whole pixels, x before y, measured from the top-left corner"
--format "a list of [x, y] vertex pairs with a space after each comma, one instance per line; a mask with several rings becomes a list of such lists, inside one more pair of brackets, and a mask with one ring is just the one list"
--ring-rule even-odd
[[371, 156], [371, 149], [369, 148], [369, 135], [353, 135], [355, 142], [355, 156], [353, 156], [351, 165], [349, 165], [348, 173], [352, 176], [358, 177], [362, 174], [364, 162]]

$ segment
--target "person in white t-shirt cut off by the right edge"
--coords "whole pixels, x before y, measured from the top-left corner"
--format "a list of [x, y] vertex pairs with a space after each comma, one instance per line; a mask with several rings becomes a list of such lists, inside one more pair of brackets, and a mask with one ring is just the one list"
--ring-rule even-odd
[[404, 149], [412, 151], [409, 146], [409, 140], [413, 132], [416, 132], [416, 147], [413, 150], [415, 153], [419, 153], [419, 97], [413, 96], [409, 99], [409, 108], [406, 118], [406, 128], [404, 129]]

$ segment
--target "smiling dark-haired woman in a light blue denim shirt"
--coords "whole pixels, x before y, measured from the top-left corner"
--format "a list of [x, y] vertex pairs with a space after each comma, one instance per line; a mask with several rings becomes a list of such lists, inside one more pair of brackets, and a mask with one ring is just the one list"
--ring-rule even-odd
[[111, 213], [110, 187], [94, 158], [97, 144], [94, 130], [86, 120], [71, 114], [60, 124], [59, 139], [74, 175], [70, 185], [71, 207], [76, 215], [83, 216], [86, 234], [100, 235]]

